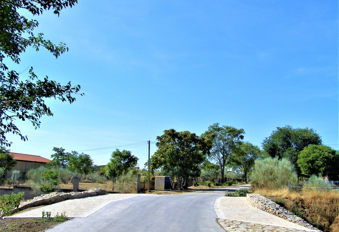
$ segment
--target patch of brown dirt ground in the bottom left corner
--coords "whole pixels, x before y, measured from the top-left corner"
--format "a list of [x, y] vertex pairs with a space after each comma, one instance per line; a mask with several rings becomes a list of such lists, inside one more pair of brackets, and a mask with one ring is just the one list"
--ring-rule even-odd
[[0, 220], [1, 232], [45, 231], [60, 222], [50, 222], [41, 218], [5, 218]]

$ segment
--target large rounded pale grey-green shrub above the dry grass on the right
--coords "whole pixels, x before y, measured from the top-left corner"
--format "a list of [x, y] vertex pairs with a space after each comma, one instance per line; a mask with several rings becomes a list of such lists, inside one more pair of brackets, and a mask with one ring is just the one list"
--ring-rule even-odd
[[285, 158], [266, 158], [255, 161], [251, 173], [253, 185], [259, 188], [279, 189], [287, 185], [287, 181], [297, 182], [294, 165]]

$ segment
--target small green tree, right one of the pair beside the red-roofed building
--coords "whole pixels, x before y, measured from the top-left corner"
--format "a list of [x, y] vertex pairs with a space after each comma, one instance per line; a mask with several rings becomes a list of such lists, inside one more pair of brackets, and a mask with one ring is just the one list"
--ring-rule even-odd
[[93, 167], [93, 159], [87, 154], [79, 154], [76, 151], [72, 151], [72, 155], [69, 159], [68, 169], [77, 172], [84, 173], [86, 175], [91, 171]]

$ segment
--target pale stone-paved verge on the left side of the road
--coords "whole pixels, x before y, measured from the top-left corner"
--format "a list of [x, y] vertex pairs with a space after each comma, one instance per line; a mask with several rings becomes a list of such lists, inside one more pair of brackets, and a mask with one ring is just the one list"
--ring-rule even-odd
[[[52, 205], [39, 207], [30, 211], [15, 214], [11, 217], [41, 217], [41, 212], [51, 212], [51, 217], [57, 213], [66, 212], [68, 217], [87, 217], [110, 202], [140, 196], [140, 194], [106, 194], [61, 201]], [[154, 196], [152, 194], [143, 194]]]

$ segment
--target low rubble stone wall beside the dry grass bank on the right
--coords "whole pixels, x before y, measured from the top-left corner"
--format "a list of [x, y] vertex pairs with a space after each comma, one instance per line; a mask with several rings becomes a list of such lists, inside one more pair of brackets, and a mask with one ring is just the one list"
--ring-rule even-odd
[[251, 203], [253, 207], [256, 207], [258, 209], [261, 209], [267, 213], [276, 215], [278, 217], [281, 217], [287, 221], [291, 221], [293, 223], [296, 223], [300, 226], [304, 226], [311, 230], [317, 230], [314, 226], [307, 223], [304, 219], [294, 215], [290, 211], [286, 210], [285, 208], [279, 206], [274, 201], [267, 199], [266, 197], [261, 196], [260, 194], [247, 194], [247, 200]]

